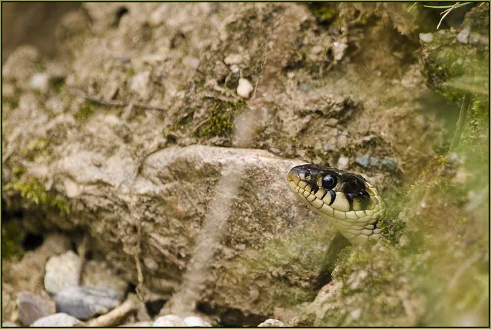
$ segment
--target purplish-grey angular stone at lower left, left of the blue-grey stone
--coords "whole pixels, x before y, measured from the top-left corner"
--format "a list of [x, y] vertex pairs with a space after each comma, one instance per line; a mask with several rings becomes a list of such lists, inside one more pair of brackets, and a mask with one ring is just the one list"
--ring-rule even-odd
[[29, 326], [43, 316], [56, 313], [56, 304], [48, 294], [21, 293], [17, 298], [18, 319], [23, 326]]

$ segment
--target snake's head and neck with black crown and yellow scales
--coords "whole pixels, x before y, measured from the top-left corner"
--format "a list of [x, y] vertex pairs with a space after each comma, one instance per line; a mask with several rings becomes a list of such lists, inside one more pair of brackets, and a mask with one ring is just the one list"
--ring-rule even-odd
[[302, 164], [290, 170], [288, 182], [307, 207], [334, 224], [352, 244], [380, 238], [383, 201], [362, 176], [318, 164]]

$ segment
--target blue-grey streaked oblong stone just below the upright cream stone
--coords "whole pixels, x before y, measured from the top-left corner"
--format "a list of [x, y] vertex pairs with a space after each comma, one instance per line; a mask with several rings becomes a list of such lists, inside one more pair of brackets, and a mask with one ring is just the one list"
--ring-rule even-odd
[[68, 287], [55, 296], [56, 310], [86, 320], [105, 314], [121, 304], [123, 296], [113, 289]]

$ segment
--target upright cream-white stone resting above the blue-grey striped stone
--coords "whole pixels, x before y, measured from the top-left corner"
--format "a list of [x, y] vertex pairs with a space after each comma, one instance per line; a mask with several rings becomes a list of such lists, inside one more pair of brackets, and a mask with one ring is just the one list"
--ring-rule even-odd
[[65, 287], [76, 286], [79, 282], [78, 266], [79, 256], [72, 250], [51, 257], [46, 262], [44, 289], [56, 295]]

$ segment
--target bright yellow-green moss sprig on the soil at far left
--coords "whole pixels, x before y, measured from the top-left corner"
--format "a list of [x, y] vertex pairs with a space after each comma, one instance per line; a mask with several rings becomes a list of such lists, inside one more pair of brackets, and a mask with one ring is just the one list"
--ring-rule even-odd
[[22, 197], [34, 201], [38, 206], [55, 207], [60, 211], [70, 214], [70, 205], [49, 195], [44, 189], [44, 186], [34, 177], [26, 177], [24, 175], [18, 181], [5, 184], [3, 188], [5, 190], [21, 192]]

